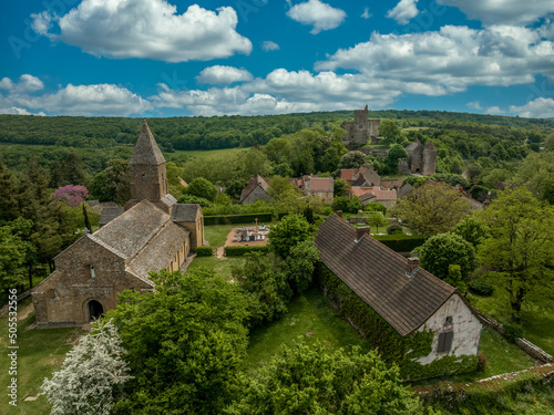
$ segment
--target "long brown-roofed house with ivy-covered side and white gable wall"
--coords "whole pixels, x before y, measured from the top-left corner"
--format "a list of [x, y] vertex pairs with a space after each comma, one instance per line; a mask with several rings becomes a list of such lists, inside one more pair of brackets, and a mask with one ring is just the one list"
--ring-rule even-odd
[[[361, 299], [377, 320], [393, 329], [386, 334], [380, 325], [377, 333], [369, 324], [365, 333], [369, 339], [387, 344], [384, 335], [394, 334], [400, 341], [413, 339], [416, 333], [429, 335], [429, 344], [421, 347], [423, 354], [406, 360], [404, 367], [412, 369], [407, 377], [418, 377], [413, 374], [414, 366], [430, 365], [420, 377], [476, 367], [480, 319], [456, 289], [422, 269], [419, 259], [402, 257], [373, 239], [369, 228], [355, 228], [337, 215], [319, 227], [316, 247], [330, 276]], [[336, 294], [340, 308], [343, 290], [337, 283], [324, 283], [324, 290], [331, 298]], [[351, 310], [351, 302], [347, 304]], [[347, 318], [358, 328], [368, 324], [357, 321], [356, 315]], [[379, 326], [379, 321], [372, 324]], [[441, 365], [439, 361], [447, 363]]]

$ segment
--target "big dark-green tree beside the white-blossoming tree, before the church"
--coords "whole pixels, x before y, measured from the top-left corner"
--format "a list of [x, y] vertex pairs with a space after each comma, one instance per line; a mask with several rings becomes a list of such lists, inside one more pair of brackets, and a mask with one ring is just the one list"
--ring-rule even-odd
[[220, 414], [244, 366], [245, 295], [205, 268], [151, 278], [155, 292], [124, 291], [106, 313], [134, 376], [115, 414]]

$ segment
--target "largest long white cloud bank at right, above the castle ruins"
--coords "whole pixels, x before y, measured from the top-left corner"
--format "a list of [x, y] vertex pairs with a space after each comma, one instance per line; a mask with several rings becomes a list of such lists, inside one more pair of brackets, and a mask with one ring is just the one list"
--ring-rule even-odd
[[379, 34], [339, 49], [318, 71], [353, 70], [407, 93], [444, 95], [469, 85], [510, 86], [554, 80], [554, 42], [515, 27], [483, 30], [447, 25], [440, 31]]

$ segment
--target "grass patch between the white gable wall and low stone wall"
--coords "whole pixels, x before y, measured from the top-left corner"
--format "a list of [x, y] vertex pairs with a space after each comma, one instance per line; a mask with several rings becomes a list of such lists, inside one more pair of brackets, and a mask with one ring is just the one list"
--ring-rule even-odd
[[483, 372], [421, 380], [412, 382], [412, 384], [428, 385], [439, 381], [469, 383], [502, 373], [523, 371], [535, 365], [535, 361], [532, 357], [490, 328], [483, 329], [481, 333], [479, 351], [486, 356], [486, 366]]

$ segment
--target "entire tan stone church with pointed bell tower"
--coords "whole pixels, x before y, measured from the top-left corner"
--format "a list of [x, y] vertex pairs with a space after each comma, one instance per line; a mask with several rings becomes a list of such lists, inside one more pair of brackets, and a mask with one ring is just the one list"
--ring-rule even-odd
[[153, 291], [148, 271], [184, 270], [204, 243], [202, 209], [168, 194], [165, 159], [146, 122], [130, 176], [125, 207], [55, 257], [54, 272], [32, 290], [39, 328], [80, 325], [115, 309], [123, 290]]

